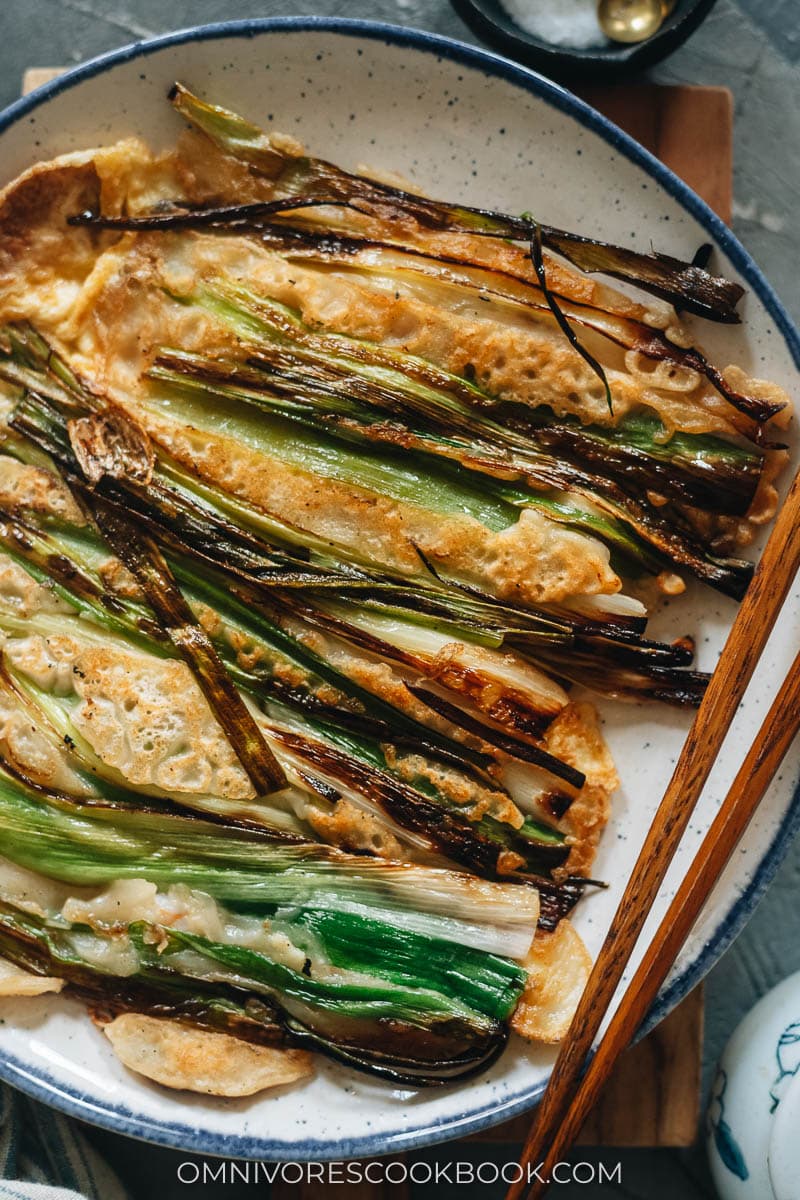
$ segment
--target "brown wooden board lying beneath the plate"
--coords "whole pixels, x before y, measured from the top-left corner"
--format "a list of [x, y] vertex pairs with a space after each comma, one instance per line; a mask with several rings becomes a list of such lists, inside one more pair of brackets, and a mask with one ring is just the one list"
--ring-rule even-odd
[[[61, 73], [59, 67], [30, 67], [23, 94]], [[600, 112], [648, 150], [730, 221], [733, 170], [733, 100], [724, 88], [662, 88], [639, 84], [593, 88], [581, 92]], [[703, 989], [697, 988], [616, 1066], [587, 1122], [581, 1142], [604, 1146], [688, 1146], [699, 1111], [703, 1048]], [[528, 1117], [474, 1134], [468, 1141], [522, 1142]], [[455, 1158], [456, 1144], [447, 1147]], [[347, 1188], [347, 1200], [404, 1200], [408, 1184], [275, 1183], [271, 1200], [324, 1200]]]

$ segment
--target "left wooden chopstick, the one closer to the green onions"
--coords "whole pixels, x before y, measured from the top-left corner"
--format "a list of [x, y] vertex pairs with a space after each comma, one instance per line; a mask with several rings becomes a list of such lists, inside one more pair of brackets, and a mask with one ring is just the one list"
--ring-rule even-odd
[[[569, 1146], [564, 1132], [587, 1056], [799, 566], [800, 473], [778, 512], [561, 1044], [525, 1141], [521, 1158], [523, 1170], [518, 1182], [510, 1187], [506, 1200], [541, 1196], [547, 1184], [539, 1177], [551, 1176], [553, 1164], [561, 1160]], [[570, 1135], [576, 1132], [572, 1122], [569, 1132]], [[540, 1168], [540, 1164], [543, 1165]], [[529, 1187], [527, 1180], [531, 1166], [537, 1170]]]

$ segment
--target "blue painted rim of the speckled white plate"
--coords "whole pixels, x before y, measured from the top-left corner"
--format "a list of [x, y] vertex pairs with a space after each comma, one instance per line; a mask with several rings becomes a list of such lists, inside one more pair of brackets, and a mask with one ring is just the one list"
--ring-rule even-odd
[[[94, 76], [102, 74], [120, 62], [144, 58], [169, 46], [185, 42], [209, 41], [217, 37], [255, 37], [271, 31], [303, 32], [319, 31], [339, 34], [349, 37], [366, 37], [383, 41], [392, 46], [407, 46], [432, 55], [450, 59], [483, 71], [524, 88], [546, 103], [567, 113], [584, 127], [593, 130], [604, 142], [624, 154], [632, 162], [644, 168], [696, 221], [698, 221], [724, 251], [740, 275], [747, 281], [764, 305], [765, 310], [780, 330], [795, 366], [800, 370], [800, 334], [792, 318], [781, 304], [775, 290], [766, 281], [751, 256], [734, 236], [720, 217], [668, 167], [664, 167], [650, 151], [640, 146], [633, 138], [618, 128], [612, 121], [597, 113], [589, 104], [578, 100], [571, 92], [549, 79], [529, 71], [527, 67], [509, 62], [500, 55], [477, 49], [455, 38], [441, 37], [420, 30], [405, 29], [369, 20], [350, 20], [336, 17], [269, 17], [257, 20], [218, 22], [212, 25], [198, 25], [193, 29], [166, 34], [146, 42], [112, 50], [100, 58], [91, 59], [78, 67], [59, 76], [53, 82], [38, 88], [30, 96], [16, 101], [0, 113], [0, 133], [34, 112], [40, 104], [53, 96]], [[792, 803], [752, 878], [744, 892], [705, 942], [694, 962], [686, 967], [658, 996], [640, 1036], [651, 1030], [686, 996], [696, 984], [711, 970], [720, 955], [728, 948], [745, 926], [748, 917], [771, 883], [795, 833], [800, 832], [800, 784], [795, 787]], [[425, 1129], [397, 1129], [380, 1135], [365, 1134], [354, 1140], [341, 1140], [336, 1144], [317, 1142], [302, 1139], [288, 1145], [270, 1142], [269, 1138], [252, 1138], [230, 1134], [203, 1133], [197, 1128], [176, 1121], [156, 1121], [134, 1112], [127, 1105], [110, 1104], [97, 1100], [77, 1088], [65, 1088], [41, 1068], [31, 1069], [26, 1063], [6, 1055], [0, 1060], [0, 1079], [12, 1084], [20, 1091], [42, 1100], [70, 1116], [79, 1117], [92, 1124], [112, 1129], [116, 1133], [142, 1138], [163, 1146], [188, 1150], [194, 1153], [218, 1154], [228, 1158], [251, 1159], [291, 1159], [318, 1162], [320, 1159], [363, 1158], [374, 1154], [387, 1154], [402, 1150], [414, 1150], [452, 1138], [462, 1138], [491, 1126], [507, 1121], [510, 1117], [534, 1106], [545, 1090], [545, 1084], [518, 1091], [505, 1098], [500, 1104], [487, 1104], [481, 1111], [450, 1116], [441, 1122], [428, 1122]]]

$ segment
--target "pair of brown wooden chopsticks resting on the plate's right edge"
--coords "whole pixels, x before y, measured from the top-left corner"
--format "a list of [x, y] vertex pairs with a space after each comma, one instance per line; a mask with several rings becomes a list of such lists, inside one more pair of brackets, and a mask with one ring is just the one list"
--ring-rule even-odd
[[581, 1080], [587, 1056], [799, 568], [800, 472], [764, 547], [589, 977], [534, 1117], [521, 1159], [524, 1170], [506, 1200], [535, 1200], [547, 1190], [545, 1181], [552, 1178], [554, 1164], [564, 1159], [616, 1058], [644, 1020], [800, 727], [799, 654]]

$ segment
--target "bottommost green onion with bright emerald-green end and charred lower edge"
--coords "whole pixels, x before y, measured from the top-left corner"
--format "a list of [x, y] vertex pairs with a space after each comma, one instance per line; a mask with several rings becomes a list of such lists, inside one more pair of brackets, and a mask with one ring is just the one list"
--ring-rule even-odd
[[[308, 916], [313, 918], [314, 911]], [[0, 905], [0, 949], [10, 949], [26, 966], [62, 974], [79, 992], [108, 992], [113, 979], [121, 1007], [131, 990], [149, 992], [156, 1012], [167, 1000], [168, 1012], [191, 1021], [199, 1016], [197, 1022], [204, 1026], [233, 1024], [239, 1036], [253, 1040], [312, 1045], [398, 1080], [434, 1085], [486, 1066], [504, 1043], [500, 1021], [521, 995], [524, 972], [507, 960], [435, 938], [398, 937], [391, 925], [371, 918], [371, 965], [379, 956], [391, 961], [392, 950], [402, 948], [407, 973], [416, 966], [414, 986], [402, 971], [378, 976], [373, 970], [371, 978], [359, 970], [357, 949], [350, 954], [354, 966], [331, 976], [319, 946], [333, 941], [339, 922], [335, 917], [326, 923], [313, 958], [306, 958], [300, 971], [270, 953], [269, 942], [249, 949], [137, 920], [109, 936], [59, 916], [42, 919], [6, 902]], [[284, 922], [282, 929], [287, 928], [291, 925]], [[473, 1003], [452, 994], [453, 982], [468, 974], [474, 979]], [[194, 998], [188, 1012], [187, 991]], [[110, 997], [114, 1004], [114, 991]], [[145, 1000], [145, 1010], [146, 1004]], [[210, 1013], [216, 1020], [209, 1021]]]

